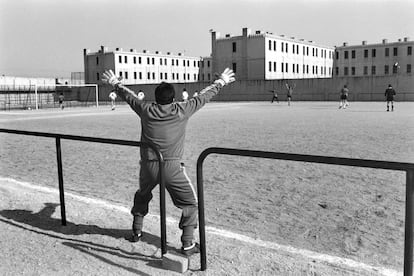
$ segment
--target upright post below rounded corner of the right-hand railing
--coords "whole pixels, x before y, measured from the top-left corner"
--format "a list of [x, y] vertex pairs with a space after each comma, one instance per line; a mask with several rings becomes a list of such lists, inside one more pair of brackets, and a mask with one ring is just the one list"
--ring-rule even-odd
[[197, 196], [198, 196], [198, 221], [200, 233], [200, 263], [201, 271], [207, 269], [207, 250], [206, 250], [206, 224], [204, 217], [204, 188], [203, 188], [203, 161], [204, 157], [197, 161]]

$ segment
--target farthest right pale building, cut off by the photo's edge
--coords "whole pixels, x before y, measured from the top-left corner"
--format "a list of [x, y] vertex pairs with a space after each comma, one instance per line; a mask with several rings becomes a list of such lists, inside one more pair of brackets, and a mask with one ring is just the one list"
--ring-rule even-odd
[[412, 74], [414, 41], [408, 37], [397, 42], [336, 47], [334, 77], [392, 76]]

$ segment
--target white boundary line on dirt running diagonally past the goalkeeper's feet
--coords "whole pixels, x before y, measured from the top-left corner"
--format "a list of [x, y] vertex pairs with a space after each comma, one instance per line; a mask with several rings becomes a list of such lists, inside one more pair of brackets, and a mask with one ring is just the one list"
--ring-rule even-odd
[[[3, 185], [5, 182], [6, 183], [11, 183], [11, 184], [14, 184], [14, 185], [23, 186], [25, 188], [29, 188], [29, 189], [40, 191], [40, 192], [56, 194], [56, 195], [59, 194], [59, 190], [55, 189], [55, 188], [43, 187], [43, 186], [38, 186], [38, 185], [28, 183], [28, 182], [17, 181], [17, 180], [12, 179], [12, 178], [0, 177], [0, 186]], [[129, 208], [127, 208], [125, 206], [121, 206], [121, 205], [112, 204], [112, 203], [109, 203], [109, 202], [101, 200], [101, 199], [94, 199], [94, 198], [89, 198], [89, 197], [85, 197], [85, 196], [80, 196], [80, 195], [72, 194], [70, 192], [65, 192], [65, 196], [72, 197], [73, 199], [76, 199], [80, 202], [95, 204], [95, 205], [101, 205], [101, 206], [104, 206], [104, 207], [107, 207], [107, 208], [115, 209], [115, 210], [118, 210], [120, 212], [130, 214], [130, 209]], [[148, 215], [151, 216], [151, 217], [156, 218], [157, 220], [159, 220], [158, 215], [152, 215], [152, 214], [148, 214]], [[167, 218], [167, 222], [168, 223], [177, 223], [177, 221], [173, 218]], [[215, 227], [206, 227], [206, 231], [208, 233], [216, 235], [216, 236], [235, 239], [235, 240], [242, 241], [242, 242], [245, 242], [245, 243], [250, 243], [250, 244], [253, 244], [253, 245], [256, 245], [256, 246], [265, 247], [265, 248], [278, 250], [278, 251], [284, 251], [284, 252], [288, 252], [288, 253], [295, 254], [295, 255], [301, 255], [302, 257], [305, 257], [305, 258], [315, 259], [315, 260], [318, 260], [318, 261], [321, 261], [321, 262], [334, 264], [334, 265], [337, 265], [339, 267], [346, 266], [346, 267], [349, 267], [349, 268], [366, 270], [366, 271], [371, 272], [371, 273], [380, 273], [380, 275], [387, 275], [387, 276], [388, 275], [389, 276], [394, 276], [394, 275], [395, 276], [397, 276], [397, 275], [400, 276], [400, 275], [402, 275], [402, 272], [399, 272], [399, 271], [396, 271], [396, 270], [393, 270], [393, 269], [384, 268], [384, 267], [375, 267], [375, 266], [371, 266], [371, 265], [364, 264], [364, 263], [361, 263], [361, 262], [357, 262], [357, 261], [347, 259], [347, 258], [332, 256], [332, 255], [328, 255], [328, 254], [321, 254], [321, 253], [314, 252], [314, 251], [307, 250], [307, 249], [295, 248], [295, 247], [292, 247], [292, 246], [280, 245], [280, 244], [277, 244], [277, 243], [274, 243], [274, 242], [268, 242], [268, 241], [263, 241], [263, 240], [259, 240], [259, 239], [253, 239], [251, 237], [241, 235], [241, 234], [237, 234], [237, 233], [233, 233], [231, 231], [227, 231], [227, 230], [224, 230], [224, 229], [218, 229], [218, 228], [215, 228]]]

